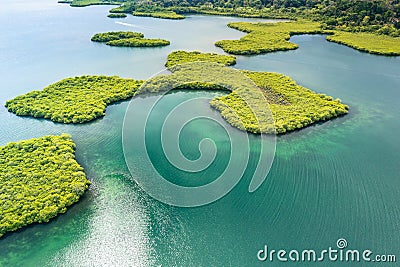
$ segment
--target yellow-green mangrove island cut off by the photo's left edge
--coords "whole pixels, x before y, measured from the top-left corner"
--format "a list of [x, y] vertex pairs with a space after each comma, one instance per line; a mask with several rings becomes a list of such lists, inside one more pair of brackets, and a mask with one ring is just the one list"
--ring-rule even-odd
[[88, 189], [69, 135], [45, 136], [0, 147], [0, 236], [48, 222]]

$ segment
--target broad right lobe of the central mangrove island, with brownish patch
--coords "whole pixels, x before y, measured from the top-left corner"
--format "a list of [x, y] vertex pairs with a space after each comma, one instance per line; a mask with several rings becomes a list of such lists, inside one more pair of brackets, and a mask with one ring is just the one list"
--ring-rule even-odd
[[[268, 120], [258, 120], [261, 132], [271, 133], [273, 132], [271, 127], [274, 127], [277, 134], [283, 134], [348, 113], [348, 106], [341, 104], [340, 100], [333, 100], [330, 96], [317, 94], [299, 86], [285, 75], [250, 71], [243, 71], [243, 73], [263, 92], [274, 118], [273, 125]], [[254, 107], [250, 108], [248, 103], [240, 97], [237, 91], [233, 91], [229, 95], [213, 99], [210, 105], [221, 111], [222, 116], [237, 127], [240, 124], [236, 122], [237, 120], [232, 119], [231, 112], [229, 112], [231, 109], [235, 110], [241, 120], [253, 122], [245, 123], [245, 129], [258, 133], [258, 128], [254, 127], [257, 121], [252, 115]], [[261, 101], [260, 106], [255, 107], [265, 109], [263, 103]], [[240, 129], [240, 127], [238, 128]]]

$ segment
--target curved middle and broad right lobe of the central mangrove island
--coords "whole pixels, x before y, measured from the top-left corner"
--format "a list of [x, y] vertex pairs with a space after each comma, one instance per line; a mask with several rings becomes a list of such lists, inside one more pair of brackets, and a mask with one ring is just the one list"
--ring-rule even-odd
[[340, 100], [312, 92], [282, 74], [249, 71], [232, 74], [221, 69], [222, 65], [214, 64], [175, 65], [170, 68], [172, 75], [147, 81], [142, 92], [172, 88], [229, 90], [230, 94], [213, 99], [210, 105], [232, 126], [252, 133], [283, 134], [348, 113], [348, 106]]

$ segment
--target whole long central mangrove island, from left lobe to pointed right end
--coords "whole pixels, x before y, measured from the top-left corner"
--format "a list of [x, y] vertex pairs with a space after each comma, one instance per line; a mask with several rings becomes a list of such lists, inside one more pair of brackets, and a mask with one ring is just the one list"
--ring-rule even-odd
[[[176, 89], [182, 89], [181, 85], [184, 84], [185, 89], [229, 90], [230, 94], [213, 99], [210, 102], [211, 107], [219, 110], [232, 126], [252, 133], [283, 134], [348, 113], [348, 106], [340, 100], [299, 86], [282, 74], [243, 70], [240, 72], [256, 86], [243, 84], [243, 78], [240, 79], [242, 76], [236, 75], [231, 80], [237, 85], [234, 88], [224, 88], [218, 85], [222, 75], [219, 73], [220, 68], [213, 69], [214, 65], [209, 67], [200, 64], [197, 67], [196, 64], [183, 64], [190, 62], [224, 66], [234, 64], [235, 57], [175, 51], [168, 56], [166, 62], [173, 75], [156, 77], [151, 81], [156, 81], [154, 85], [144, 86], [145, 89], [142, 86], [143, 81], [134, 79], [82, 76], [67, 78], [42, 91], [18, 96], [7, 101], [6, 107], [19, 116], [33, 116], [61, 123], [83, 123], [104, 116], [107, 105], [113, 102], [139, 93], [162, 92], [174, 84], [180, 86]], [[196, 77], [205, 74], [209, 75], [211, 82], [196, 80]], [[188, 77], [192, 79], [190, 83]], [[243, 95], [246, 99], [243, 99]], [[266, 109], [271, 110], [273, 120], [263, 114]]]

